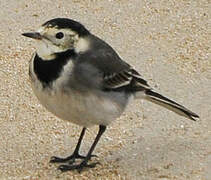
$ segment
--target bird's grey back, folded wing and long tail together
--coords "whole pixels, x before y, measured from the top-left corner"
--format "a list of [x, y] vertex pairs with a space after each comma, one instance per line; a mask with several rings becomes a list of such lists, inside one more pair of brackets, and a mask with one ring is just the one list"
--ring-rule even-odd
[[[126, 91], [136, 93], [144, 91], [147, 100], [159, 104], [179, 115], [196, 120], [199, 116], [184, 106], [151, 90], [147, 81], [129, 64], [121, 60], [116, 52], [104, 41], [90, 35], [92, 49], [79, 55], [75, 66], [78, 80], [84, 80], [85, 86], [97, 86], [102, 90]], [[87, 59], [89, 57], [89, 59]], [[83, 76], [83, 77], [82, 77]], [[81, 82], [83, 83], [83, 82]]]

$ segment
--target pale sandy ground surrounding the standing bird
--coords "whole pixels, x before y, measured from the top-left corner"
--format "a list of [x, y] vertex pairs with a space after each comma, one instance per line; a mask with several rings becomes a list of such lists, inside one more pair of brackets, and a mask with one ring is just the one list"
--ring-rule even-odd
[[[0, 0], [0, 179], [211, 179], [209, 0]], [[111, 44], [150, 85], [200, 115], [197, 122], [134, 101], [102, 137], [93, 161], [61, 173], [52, 155], [69, 155], [81, 128], [47, 112], [33, 95], [34, 42], [21, 33], [69, 17]], [[86, 153], [97, 127], [86, 134]]]

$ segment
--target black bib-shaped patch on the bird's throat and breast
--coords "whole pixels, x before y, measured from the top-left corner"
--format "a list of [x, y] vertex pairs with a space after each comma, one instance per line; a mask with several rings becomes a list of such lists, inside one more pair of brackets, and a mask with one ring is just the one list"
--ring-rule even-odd
[[67, 62], [76, 57], [74, 50], [67, 50], [57, 53], [53, 60], [43, 60], [36, 54], [34, 58], [34, 72], [37, 78], [42, 82], [43, 87], [50, 86], [51, 82], [56, 80]]

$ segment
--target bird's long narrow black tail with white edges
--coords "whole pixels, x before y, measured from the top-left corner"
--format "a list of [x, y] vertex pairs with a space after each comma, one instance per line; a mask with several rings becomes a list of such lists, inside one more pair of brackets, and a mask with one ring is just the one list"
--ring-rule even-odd
[[197, 114], [195, 114], [194, 112], [188, 110], [187, 108], [185, 108], [184, 106], [162, 96], [161, 94], [158, 94], [152, 90], [146, 90], [145, 91], [146, 95], [147, 95], [147, 99], [159, 104], [161, 106], [166, 107], [167, 109], [174, 111], [175, 113], [188, 117], [191, 120], [196, 121], [196, 118], [199, 118], [199, 116]]

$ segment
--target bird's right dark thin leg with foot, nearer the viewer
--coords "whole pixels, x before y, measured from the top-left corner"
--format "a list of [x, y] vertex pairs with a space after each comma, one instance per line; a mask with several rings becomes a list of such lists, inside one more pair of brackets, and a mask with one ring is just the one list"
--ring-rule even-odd
[[78, 172], [80, 173], [83, 170], [83, 168], [85, 168], [85, 167], [87, 167], [87, 168], [93, 168], [93, 167], [95, 167], [96, 164], [98, 164], [98, 163], [92, 163], [92, 164], [87, 164], [87, 163], [91, 159], [92, 152], [94, 151], [94, 149], [95, 149], [95, 147], [96, 147], [96, 145], [97, 145], [100, 137], [105, 132], [105, 130], [106, 130], [106, 126], [100, 125], [99, 131], [98, 131], [98, 134], [97, 134], [97, 136], [96, 136], [96, 138], [94, 140], [94, 143], [92, 144], [92, 146], [91, 146], [91, 148], [90, 148], [87, 156], [85, 157], [84, 160], [82, 160], [82, 162], [80, 164], [78, 164], [78, 165], [61, 165], [61, 166], [59, 166], [59, 169], [61, 171], [63, 171], [63, 172], [64, 171], [71, 171], [71, 170], [77, 169]]

